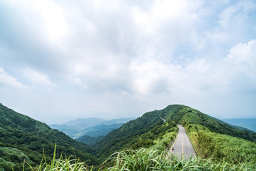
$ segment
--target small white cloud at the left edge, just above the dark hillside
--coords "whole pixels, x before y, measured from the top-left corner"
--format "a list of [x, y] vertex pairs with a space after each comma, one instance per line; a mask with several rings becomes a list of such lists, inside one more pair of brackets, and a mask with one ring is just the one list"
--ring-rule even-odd
[[28, 89], [28, 86], [25, 86], [23, 83], [19, 82], [17, 78], [10, 76], [9, 73], [4, 71], [4, 68], [0, 67], [0, 84], [12, 87], [12, 88], [21, 88], [21, 89]]

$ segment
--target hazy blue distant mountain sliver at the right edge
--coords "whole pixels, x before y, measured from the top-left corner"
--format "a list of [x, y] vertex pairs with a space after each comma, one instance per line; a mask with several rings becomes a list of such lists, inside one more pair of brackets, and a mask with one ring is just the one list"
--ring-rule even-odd
[[233, 119], [222, 119], [222, 120], [225, 121], [226, 123], [247, 128], [256, 132], [256, 118], [233, 118]]

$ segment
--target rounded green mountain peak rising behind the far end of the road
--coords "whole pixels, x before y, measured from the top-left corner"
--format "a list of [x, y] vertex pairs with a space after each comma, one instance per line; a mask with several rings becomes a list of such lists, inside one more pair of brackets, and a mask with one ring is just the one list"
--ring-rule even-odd
[[[168, 125], [163, 123], [161, 118], [165, 119]], [[256, 142], [255, 133], [221, 123], [209, 115], [185, 105], [168, 105], [163, 110], [154, 110], [145, 113], [141, 118], [130, 120], [121, 128], [108, 133], [108, 135], [96, 142], [93, 147], [98, 154], [101, 154], [101, 157], [107, 157], [113, 152], [126, 148], [127, 145], [135, 147], [135, 149], [149, 147], [150, 145], [155, 145], [155, 140], [163, 138], [167, 134], [165, 130], [173, 132], [176, 124], [182, 124], [185, 127], [188, 125], [200, 125], [211, 133], [230, 135]]]

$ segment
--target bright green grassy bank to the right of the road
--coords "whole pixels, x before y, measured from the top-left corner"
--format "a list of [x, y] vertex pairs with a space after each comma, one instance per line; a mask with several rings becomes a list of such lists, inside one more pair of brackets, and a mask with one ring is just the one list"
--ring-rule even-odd
[[[212, 133], [202, 125], [188, 125], [188, 133], [200, 156], [238, 164], [256, 161], [256, 143]], [[255, 163], [256, 164], [256, 163]]]

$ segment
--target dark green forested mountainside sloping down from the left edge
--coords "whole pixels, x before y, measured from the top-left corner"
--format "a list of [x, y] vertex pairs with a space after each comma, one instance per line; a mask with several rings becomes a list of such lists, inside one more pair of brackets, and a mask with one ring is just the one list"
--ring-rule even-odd
[[16, 113], [0, 103], [0, 170], [21, 170], [23, 161], [38, 165], [46, 155], [46, 160], [56, 154], [81, 157], [88, 165], [96, 165], [95, 150], [84, 143], [69, 138], [45, 123]]

